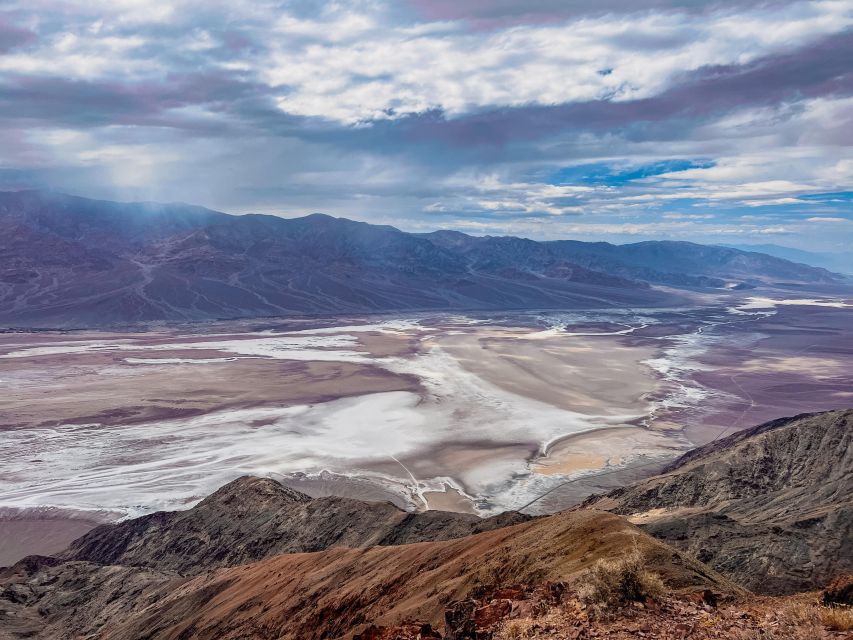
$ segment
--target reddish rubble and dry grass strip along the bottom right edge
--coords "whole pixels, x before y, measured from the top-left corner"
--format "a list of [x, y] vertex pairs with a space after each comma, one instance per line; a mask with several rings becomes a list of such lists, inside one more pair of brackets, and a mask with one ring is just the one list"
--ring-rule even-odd
[[[447, 608], [444, 636], [407, 621], [353, 640], [850, 640], [838, 609], [811, 596], [709, 602], [708, 591], [663, 595], [615, 609], [591, 609], [572, 585], [544, 583], [484, 589]], [[427, 625], [428, 626], [428, 625]]]

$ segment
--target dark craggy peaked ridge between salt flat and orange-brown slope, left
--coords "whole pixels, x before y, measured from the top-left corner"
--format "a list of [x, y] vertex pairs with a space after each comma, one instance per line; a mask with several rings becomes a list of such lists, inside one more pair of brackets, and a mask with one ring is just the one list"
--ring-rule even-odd
[[311, 498], [269, 478], [245, 476], [186, 511], [102, 525], [60, 557], [195, 574], [281, 553], [460, 538], [529, 520], [508, 512], [407, 513], [390, 502]]

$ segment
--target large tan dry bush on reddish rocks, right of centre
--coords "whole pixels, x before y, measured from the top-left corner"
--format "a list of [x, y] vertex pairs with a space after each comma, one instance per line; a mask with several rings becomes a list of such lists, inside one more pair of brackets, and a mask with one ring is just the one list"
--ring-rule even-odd
[[581, 602], [597, 607], [621, 606], [660, 598], [666, 586], [660, 576], [646, 568], [638, 549], [615, 560], [599, 560], [578, 578]]

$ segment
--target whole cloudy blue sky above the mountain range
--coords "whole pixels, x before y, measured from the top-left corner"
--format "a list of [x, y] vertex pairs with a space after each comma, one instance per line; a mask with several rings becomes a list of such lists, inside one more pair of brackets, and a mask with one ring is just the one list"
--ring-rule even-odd
[[0, 189], [853, 244], [853, 0], [3, 0]]

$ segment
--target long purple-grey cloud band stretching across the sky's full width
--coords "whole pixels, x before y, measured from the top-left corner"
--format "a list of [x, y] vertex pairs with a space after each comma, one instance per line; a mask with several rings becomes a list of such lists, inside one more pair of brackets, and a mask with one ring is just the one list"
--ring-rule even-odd
[[[853, 32], [846, 31], [746, 65], [699, 69], [662, 94], [642, 100], [508, 108], [456, 118], [436, 109], [355, 129], [322, 122], [312, 125], [305, 118], [288, 116], [275, 107], [273, 89], [239, 72], [170, 73], [161, 80], [141, 82], [7, 75], [0, 92], [0, 117], [62, 126], [166, 126], [224, 135], [222, 122], [175, 113], [183, 107], [204, 106], [230, 117], [232, 127], [389, 151], [406, 142], [503, 146], [566, 130], [628, 130], [635, 139], [658, 139], [679, 135], [683, 128], [723, 111], [850, 95], [851, 59]], [[656, 126], [661, 122], [663, 127]]]

